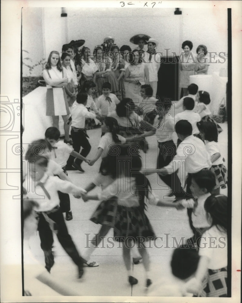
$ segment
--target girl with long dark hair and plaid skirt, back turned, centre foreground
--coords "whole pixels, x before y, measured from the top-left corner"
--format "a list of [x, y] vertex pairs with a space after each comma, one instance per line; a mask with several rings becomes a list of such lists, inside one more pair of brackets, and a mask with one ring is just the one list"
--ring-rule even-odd
[[[130, 146], [121, 148], [114, 146], [113, 151], [119, 151], [117, 156], [117, 179], [107, 186], [100, 195], [83, 195], [84, 201], [97, 199], [103, 201], [115, 201], [115, 217], [112, 217], [114, 227], [114, 240], [122, 243], [124, 264], [128, 273], [128, 281], [131, 285], [137, 284], [138, 280], [132, 276], [130, 250], [134, 243], [138, 244], [138, 250], [143, 258], [146, 271], [146, 286], [151, 285], [149, 277], [150, 260], [144, 242], [152, 240], [155, 235], [153, 228], [145, 215], [148, 199], [154, 198], [150, 193], [150, 182], [142, 173], [141, 157]], [[138, 148], [136, 148], [138, 151]], [[132, 170], [135, 170], [133, 173]], [[108, 203], [110, 203], [108, 202]]]

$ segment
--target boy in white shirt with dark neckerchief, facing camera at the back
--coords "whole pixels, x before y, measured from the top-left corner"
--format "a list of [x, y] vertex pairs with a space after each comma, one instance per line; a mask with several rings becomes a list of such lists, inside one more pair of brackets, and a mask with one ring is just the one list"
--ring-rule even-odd
[[116, 105], [120, 103], [117, 96], [111, 93], [111, 83], [104, 82], [102, 85], [102, 95], [98, 97], [96, 105], [101, 117], [105, 118], [116, 110]]

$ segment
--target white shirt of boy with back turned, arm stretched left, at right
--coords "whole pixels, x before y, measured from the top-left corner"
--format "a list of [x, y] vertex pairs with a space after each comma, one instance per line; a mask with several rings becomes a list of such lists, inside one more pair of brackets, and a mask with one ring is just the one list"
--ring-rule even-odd
[[193, 135], [185, 138], [177, 148], [177, 154], [164, 168], [171, 174], [176, 171], [183, 159], [186, 161], [186, 172], [194, 174], [203, 168], [211, 167], [210, 156], [203, 141]]

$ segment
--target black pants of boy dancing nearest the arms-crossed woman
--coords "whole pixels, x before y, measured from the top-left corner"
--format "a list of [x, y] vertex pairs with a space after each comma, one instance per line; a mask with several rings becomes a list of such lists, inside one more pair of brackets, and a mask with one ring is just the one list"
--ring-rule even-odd
[[[74, 130], [71, 128], [71, 139], [73, 142], [72, 146], [74, 148], [74, 151], [79, 153], [82, 147], [80, 155], [86, 157], [91, 150], [91, 145], [88, 141], [88, 138], [86, 137], [86, 133], [81, 129], [78, 132], [74, 132]], [[74, 159], [75, 157], [70, 156], [69, 159], [67, 160], [67, 165], [71, 166], [73, 164]], [[83, 160], [76, 159], [75, 163], [81, 165], [82, 161]]]

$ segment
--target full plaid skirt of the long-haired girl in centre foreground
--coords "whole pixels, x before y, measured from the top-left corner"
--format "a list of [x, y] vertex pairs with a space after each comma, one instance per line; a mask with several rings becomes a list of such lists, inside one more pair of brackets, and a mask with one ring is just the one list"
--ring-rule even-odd
[[149, 219], [140, 207], [125, 207], [118, 205], [114, 222], [114, 240], [124, 242], [128, 237], [136, 242], [155, 238]]

